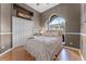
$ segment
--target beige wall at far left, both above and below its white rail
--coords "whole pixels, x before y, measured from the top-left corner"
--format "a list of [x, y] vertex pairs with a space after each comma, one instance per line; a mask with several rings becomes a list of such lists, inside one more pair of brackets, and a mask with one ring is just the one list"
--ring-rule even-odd
[[1, 3], [1, 30], [0, 30], [0, 46], [1, 52], [11, 48], [11, 4]]

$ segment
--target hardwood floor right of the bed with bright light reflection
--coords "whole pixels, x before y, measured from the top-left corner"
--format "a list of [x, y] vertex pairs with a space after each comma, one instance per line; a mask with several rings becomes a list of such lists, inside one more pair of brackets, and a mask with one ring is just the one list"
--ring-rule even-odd
[[63, 48], [57, 57], [57, 61], [82, 61], [82, 56], [76, 50]]

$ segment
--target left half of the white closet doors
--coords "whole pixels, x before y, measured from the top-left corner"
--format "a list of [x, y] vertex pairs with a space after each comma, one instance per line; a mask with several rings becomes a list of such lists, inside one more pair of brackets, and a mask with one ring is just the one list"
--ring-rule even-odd
[[13, 47], [17, 47], [19, 44], [22, 44], [23, 42], [23, 22], [17, 18], [17, 17], [13, 17], [12, 18], [12, 31], [13, 31]]

